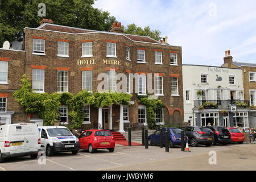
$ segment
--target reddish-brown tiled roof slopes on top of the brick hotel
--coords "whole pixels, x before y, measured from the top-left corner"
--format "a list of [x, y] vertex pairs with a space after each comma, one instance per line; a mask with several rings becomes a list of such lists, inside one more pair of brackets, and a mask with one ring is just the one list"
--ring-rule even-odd
[[[49, 24], [49, 23], [44, 23], [44, 24], [42, 24], [42, 26], [39, 26], [38, 28], [43, 29], [43, 30], [68, 32], [68, 33], [72, 33], [72, 34], [81, 34], [81, 33], [88, 33], [88, 32], [101, 32], [101, 31], [96, 31], [96, 30], [86, 30], [86, 29], [82, 29], [82, 28], [60, 26], [60, 25]], [[121, 33], [117, 33], [117, 34], [124, 35], [127, 38], [134, 40], [134, 41], [162, 44], [162, 43], [160, 43], [154, 39], [151, 39], [147, 36], [136, 36], [136, 35], [129, 35], [129, 34], [121, 34]]]

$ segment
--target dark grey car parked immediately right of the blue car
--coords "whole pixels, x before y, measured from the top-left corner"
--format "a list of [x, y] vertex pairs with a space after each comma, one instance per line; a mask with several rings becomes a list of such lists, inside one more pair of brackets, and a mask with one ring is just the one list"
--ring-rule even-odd
[[197, 147], [199, 144], [211, 146], [214, 138], [213, 131], [205, 126], [184, 126], [181, 128], [188, 137], [188, 142], [192, 147]]

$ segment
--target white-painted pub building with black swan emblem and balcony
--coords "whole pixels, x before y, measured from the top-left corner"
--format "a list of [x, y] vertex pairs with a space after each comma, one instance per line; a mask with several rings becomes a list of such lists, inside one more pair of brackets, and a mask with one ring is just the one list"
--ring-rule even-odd
[[242, 69], [205, 65], [183, 65], [182, 69], [184, 121], [193, 126], [249, 125]]

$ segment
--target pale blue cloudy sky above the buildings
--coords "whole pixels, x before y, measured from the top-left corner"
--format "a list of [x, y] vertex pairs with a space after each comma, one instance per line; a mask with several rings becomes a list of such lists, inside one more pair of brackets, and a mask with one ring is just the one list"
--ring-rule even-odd
[[183, 64], [220, 66], [224, 52], [234, 61], [256, 63], [255, 0], [97, 0], [123, 25], [150, 26], [183, 47]]

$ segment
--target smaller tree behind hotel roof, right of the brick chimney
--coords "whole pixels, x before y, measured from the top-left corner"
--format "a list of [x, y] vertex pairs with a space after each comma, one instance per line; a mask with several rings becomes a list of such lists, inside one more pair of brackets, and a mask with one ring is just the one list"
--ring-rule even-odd
[[160, 40], [161, 32], [159, 30], [151, 30], [150, 27], [137, 27], [136, 24], [128, 24], [127, 27], [123, 26], [123, 32], [125, 34], [149, 36], [152, 39]]

